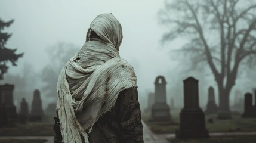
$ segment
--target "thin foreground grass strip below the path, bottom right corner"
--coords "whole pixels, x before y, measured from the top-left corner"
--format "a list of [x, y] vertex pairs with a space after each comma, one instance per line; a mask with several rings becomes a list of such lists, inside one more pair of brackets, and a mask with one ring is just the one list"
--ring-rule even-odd
[[181, 140], [181, 139], [169, 139], [171, 143], [253, 143], [256, 142], [256, 138], [254, 135], [246, 135], [246, 136], [214, 136], [211, 138], [204, 139], [189, 139], [189, 140]]

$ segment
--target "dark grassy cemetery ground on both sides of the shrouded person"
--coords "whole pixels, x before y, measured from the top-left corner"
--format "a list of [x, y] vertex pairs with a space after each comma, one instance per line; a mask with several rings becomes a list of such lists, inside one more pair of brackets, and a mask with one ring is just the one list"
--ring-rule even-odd
[[[167, 135], [169, 133], [175, 133], [175, 130], [179, 126], [179, 113], [180, 110], [171, 110], [172, 119], [174, 122], [149, 122], [150, 114], [142, 114], [144, 123], [152, 130], [153, 133]], [[240, 117], [240, 114], [233, 113], [232, 120], [217, 120], [217, 114], [206, 115], [206, 128], [210, 133], [212, 132], [255, 132], [256, 131], [256, 119], [244, 119]], [[209, 118], [214, 119], [214, 123], [207, 123]], [[54, 136], [53, 131], [54, 119], [53, 116], [47, 117], [43, 122], [27, 122], [26, 124], [17, 123], [16, 126], [11, 128], [1, 128], [0, 136]], [[160, 135], [160, 136], [161, 136]], [[31, 139], [0, 139], [1, 142], [31, 142]], [[190, 139], [180, 140], [169, 138], [172, 143], [192, 143], [192, 142], [256, 142], [255, 135], [243, 135], [243, 136], [211, 136], [208, 139]], [[35, 139], [35, 143], [45, 142], [44, 139]]]

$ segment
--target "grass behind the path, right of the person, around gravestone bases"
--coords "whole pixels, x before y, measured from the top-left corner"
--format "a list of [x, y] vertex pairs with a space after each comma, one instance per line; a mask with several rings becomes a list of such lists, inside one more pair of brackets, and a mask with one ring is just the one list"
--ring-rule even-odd
[[[171, 112], [173, 122], [149, 122], [150, 114], [143, 114], [143, 121], [149, 126], [154, 133], [175, 133], [179, 126], [180, 111]], [[232, 114], [232, 120], [217, 120], [217, 114], [206, 115], [205, 120], [214, 119], [214, 123], [207, 123], [206, 128], [209, 132], [255, 132], [256, 118], [245, 119], [241, 118], [238, 113]]]

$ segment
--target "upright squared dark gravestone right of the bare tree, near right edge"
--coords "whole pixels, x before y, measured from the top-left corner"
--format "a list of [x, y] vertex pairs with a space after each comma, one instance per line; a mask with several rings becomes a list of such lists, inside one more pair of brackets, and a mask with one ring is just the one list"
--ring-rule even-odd
[[243, 118], [256, 117], [254, 107], [252, 105], [252, 94], [245, 94], [244, 112], [242, 114]]

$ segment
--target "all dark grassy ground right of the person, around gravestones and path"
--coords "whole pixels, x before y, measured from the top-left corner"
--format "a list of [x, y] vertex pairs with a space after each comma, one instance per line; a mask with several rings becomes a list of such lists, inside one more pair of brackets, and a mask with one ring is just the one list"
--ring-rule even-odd
[[[242, 132], [256, 132], [256, 118], [242, 118], [239, 113], [232, 113], [232, 120], [217, 120], [217, 114], [205, 115], [206, 129], [209, 133], [220, 133], [220, 135], [210, 135], [211, 138], [205, 139], [175, 139], [175, 130], [179, 127], [180, 110], [171, 110], [171, 122], [152, 122], [149, 121], [150, 114], [142, 114], [144, 123], [149, 126], [153, 133], [156, 134], [172, 134], [168, 137], [168, 141], [172, 143], [192, 143], [192, 142], [256, 142], [255, 135], [225, 135], [225, 133], [242, 133]], [[208, 123], [208, 119], [213, 119], [214, 123]], [[221, 135], [223, 133], [223, 135]], [[167, 138], [167, 137], [166, 137]]]

